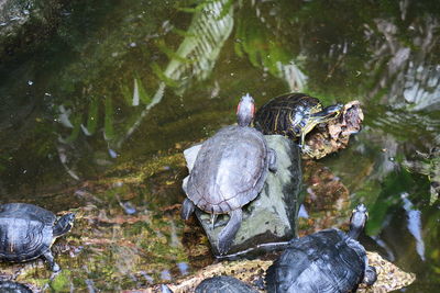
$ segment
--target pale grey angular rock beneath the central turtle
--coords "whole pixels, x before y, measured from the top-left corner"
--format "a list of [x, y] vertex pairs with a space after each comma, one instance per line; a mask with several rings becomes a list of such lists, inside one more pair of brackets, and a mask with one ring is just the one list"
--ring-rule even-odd
[[[298, 146], [280, 135], [265, 135], [268, 147], [277, 155], [277, 172], [268, 172], [266, 182], [258, 196], [243, 207], [243, 221], [237, 233], [229, 256], [255, 253], [258, 250], [272, 250], [296, 237], [296, 218], [299, 210], [299, 191], [301, 168]], [[194, 162], [200, 145], [184, 151], [187, 162]], [[188, 164], [189, 171], [193, 166]], [[184, 179], [184, 190], [188, 178]], [[211, 214], [196, 210], [196, 216], [204, 227], [211, 244], [212, 252], [217, 251], [220, 230], [228, 223], [228, 215], [219, 215], [212, 229]]]

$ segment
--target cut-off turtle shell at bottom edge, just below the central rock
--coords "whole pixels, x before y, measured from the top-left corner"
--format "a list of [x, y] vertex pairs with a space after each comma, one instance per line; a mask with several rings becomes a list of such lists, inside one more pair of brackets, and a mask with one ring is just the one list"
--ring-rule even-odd
[[257, 291], [233, 277], [218, 275], [201, 281], [195, 293], [257, 293]]

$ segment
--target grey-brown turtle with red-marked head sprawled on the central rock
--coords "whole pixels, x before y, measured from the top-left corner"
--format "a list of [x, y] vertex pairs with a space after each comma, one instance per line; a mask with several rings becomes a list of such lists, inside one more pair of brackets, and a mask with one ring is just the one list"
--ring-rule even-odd
[[268, 170], [276, 172], [275, 150], [250, 126], [254, 112], [253, 98], [243, 95], [237, 109], [238, 125], [221, 128], [201, 145], [184, 184], [184, 219], [196, 206], [212, 214], [212, 223], [218, 214], [230, 215], [217, 240], [220, 255], [228, 252], [240, 228], [241, 209], [258, 195]]

